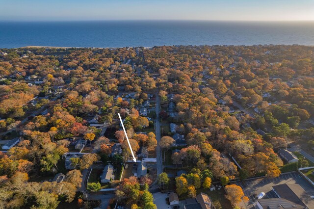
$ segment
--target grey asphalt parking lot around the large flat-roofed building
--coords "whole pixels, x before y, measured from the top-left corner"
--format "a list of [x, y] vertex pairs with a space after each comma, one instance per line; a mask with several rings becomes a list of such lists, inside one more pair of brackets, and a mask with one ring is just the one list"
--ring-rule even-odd
[[309, 195], [314, 195], [314, 187], [303, 179], [297, 172], [284, 173], [277, 178], [259, 178], [253, 180], [245, 180], [242, 182], [234, 182], [238, 186], [241, 186], [245, 196], [250, 201], [244, 205], [243, 208], [254, 209], [253, 203], [255, 203], [255, 195], [259, 195], [264, 192], [263, 198], [276, 198], [276, 195], [271, 191], [272, 186], [284, 184], [284, 183], [296, 183], [299, 184]]

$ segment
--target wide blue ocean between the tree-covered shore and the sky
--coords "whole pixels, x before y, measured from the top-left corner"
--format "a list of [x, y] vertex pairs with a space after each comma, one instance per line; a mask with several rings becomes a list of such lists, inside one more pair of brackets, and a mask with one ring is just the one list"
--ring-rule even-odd
[[0, 22], [0, 48], [314, 45], [314, 22]]

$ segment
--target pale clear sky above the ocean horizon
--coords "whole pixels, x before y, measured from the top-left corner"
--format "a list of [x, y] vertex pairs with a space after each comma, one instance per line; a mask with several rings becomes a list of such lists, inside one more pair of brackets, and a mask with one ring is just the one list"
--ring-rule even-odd
[[0, 0], [0, 20], [314, 20], [314, 0]]

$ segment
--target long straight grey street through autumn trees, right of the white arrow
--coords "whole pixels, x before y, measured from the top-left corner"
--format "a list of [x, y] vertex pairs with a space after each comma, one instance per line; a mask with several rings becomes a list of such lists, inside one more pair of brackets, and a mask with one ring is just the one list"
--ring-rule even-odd
[[156, 140], [157, 140], [157, 147], [156, 147], [156, 155], [157, 155], [157, 175], [162, 173], [162, 159], [161, 159], [161, 149], [159, 147], [160, 141], [160, 121], [159, 121], [159, 111], [160, 111], [160, 97], [159, 91], [156, 92], [156, 120], [155, 120], [155, 132], [156, 132]]

